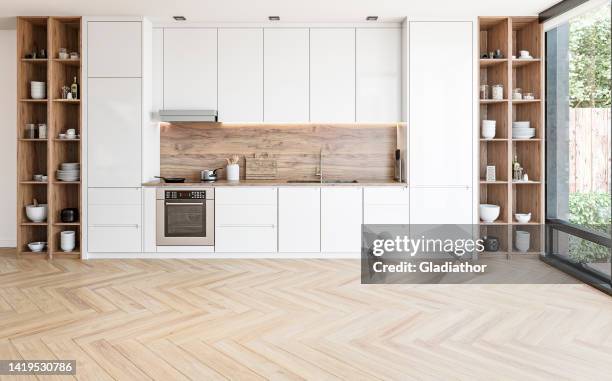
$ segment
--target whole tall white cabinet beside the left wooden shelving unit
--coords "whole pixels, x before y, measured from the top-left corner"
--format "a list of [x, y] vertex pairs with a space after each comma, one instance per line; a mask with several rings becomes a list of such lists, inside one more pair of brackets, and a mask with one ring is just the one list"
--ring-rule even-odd
[[144, 21], [87, 21], [87, 251], [142, 251]]

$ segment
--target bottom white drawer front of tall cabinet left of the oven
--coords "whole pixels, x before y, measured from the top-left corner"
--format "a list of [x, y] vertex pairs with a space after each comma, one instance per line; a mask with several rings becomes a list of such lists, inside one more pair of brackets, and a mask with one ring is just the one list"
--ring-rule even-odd
[[92, 253], [138, 253], [142, 246], [140, 225], [89, 226], [88, 249]]

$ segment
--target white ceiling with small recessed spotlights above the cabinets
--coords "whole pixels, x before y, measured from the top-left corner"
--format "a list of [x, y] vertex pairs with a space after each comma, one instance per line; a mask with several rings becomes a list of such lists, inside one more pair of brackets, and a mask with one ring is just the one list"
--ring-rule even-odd
[[355, 22], [410, 18], [536, 15], [560, 0], [1, 0], [0, 18], [30, 15], [148, 16], [194, 22]]

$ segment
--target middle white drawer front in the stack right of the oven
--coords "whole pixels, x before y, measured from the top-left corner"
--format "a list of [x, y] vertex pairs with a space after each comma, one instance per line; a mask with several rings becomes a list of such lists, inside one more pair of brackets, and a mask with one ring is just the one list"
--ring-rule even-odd
[[215, 225], [276, 225], [276, 205], [215, 205]]

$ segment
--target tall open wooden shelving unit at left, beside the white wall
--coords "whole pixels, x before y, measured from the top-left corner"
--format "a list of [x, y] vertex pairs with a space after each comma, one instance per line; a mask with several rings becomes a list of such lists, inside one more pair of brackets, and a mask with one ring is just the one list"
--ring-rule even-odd
[[[61, 163], [81, 163], [80, 139], [59, 140], [60, 133], [74, 128], [80, 135], [80, 99], [61, 99], [62, 86], [70, 86], [74, 77], [81, 84], [81, 60], [59, 59], [60, 48], [81, 55], [80, 17], [18, 17], [17, 18], [17, 252], [30, 252], [27, 244], [46, 241], [42, 252], [49, 259], [62, 254], [80, 256], [81, 242], [81, 185], [80, 181], [63, 183], [56, 178]], [[48, 58], [25, 58], [33, 50], [45, 49]], [[30, 98], [30, 81], [47, 84], [46, 99]], [[79, 94], [80, 98], [80, 94]], [[46, 123], [47, 139], [25, 138], [27, 123]], [[33, 181], [34, 174], [48, 176], [48, 181]], [[47, 221], [30, 222], [25, 206], [36, 198], [48, 205]], [[62, 223], [61, 210], [77, 208], [79, 219], [75, 223]], [[74, 251], [64, 253], [60, 247], [60, 233], [76, 232]]]

